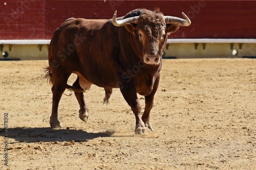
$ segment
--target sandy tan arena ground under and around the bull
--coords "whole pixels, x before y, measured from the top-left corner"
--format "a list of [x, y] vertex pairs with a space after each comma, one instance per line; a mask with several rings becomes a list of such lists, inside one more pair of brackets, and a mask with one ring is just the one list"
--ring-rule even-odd
[[0, 169], [256, 169], [255, 59], [163, 60], [155, 131], [143, 136], [134, 135], [135, 117], [119, 89], [106, 106], [97, 86], [85, 94], [88, 124], [65, 91], [63, 128], [50, 129], [51, 87], [41, 78], [47, 64], [0, 62]]

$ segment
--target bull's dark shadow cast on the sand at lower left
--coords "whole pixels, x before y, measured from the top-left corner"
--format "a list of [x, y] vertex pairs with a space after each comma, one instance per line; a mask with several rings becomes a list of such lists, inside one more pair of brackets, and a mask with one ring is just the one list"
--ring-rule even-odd
[[[0, 129], [1, 135], [4, 129]], [[52, 141], [81, 141], [86, 142], [97, 137], [110, 137], [113, 132], [106, 131], [100, 133], [88, 133], [83, 130], [65, 130], [51, 128], [8, 128], [8, 138], [13, 138], [17, 142], [52, 142]]]

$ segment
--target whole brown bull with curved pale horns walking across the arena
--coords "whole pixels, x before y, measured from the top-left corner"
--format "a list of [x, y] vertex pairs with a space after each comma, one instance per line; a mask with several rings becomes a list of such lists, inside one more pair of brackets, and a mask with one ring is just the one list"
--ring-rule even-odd
[[[46, 77], [52, 84], [51, 128], [61, 127], [58, 104], [66, 88], [74, 90], [80, 105], [79, 117], [87, 122], [89, 109], [83, 89], [92, 84], [105, 89], [108, 103], [112, 88], [120, 88], [135, 118], [135, 133], [153, 131], [150, 111], [157, 91], [162, 53], [167, 37], [179, 26], [189, 26], [185, 19], [164, 16], [159, 10], [136, 9], [124, 17], [112, 19], [67, 19], [52, 37]], [[71, 74], [78, 75], [73, 86], [67, 85]], [[145, 110], [137, 93], [145, 96]]]

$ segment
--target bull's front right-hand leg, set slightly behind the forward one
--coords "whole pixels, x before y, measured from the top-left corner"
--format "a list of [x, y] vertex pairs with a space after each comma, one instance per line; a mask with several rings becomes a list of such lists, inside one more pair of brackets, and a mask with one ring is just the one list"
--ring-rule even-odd
[[159, 80], [160, 80], [160, 74], [157, 76], [157, 78], [155, 80], [153, 90], [151, 91], [151, 93], [149, 95], [145, 96], [145, 110], [142, 115], [142, 120], [145, 124], [146, 129], [150, 130], [150, 131], [154, 131], [154, 129], [150, 123], [150, 111], [154, 105], [154, 96], [155, 96], [157, 88], [158, 88]]

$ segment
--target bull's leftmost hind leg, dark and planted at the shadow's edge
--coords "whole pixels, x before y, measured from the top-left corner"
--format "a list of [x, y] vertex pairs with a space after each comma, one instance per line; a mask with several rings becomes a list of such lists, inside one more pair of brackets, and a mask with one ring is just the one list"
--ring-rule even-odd
[[[57, 71], [56, 71], [57, 72]], [[52, 86], [52, 115], [50, 118], [51, 128], [61, 128], [61, 124], [58, 120], [58, 106], [62, 93], [66, 89], [68, 78], [70, 75], [65, 75], [62, 72], [52, 72], [53, 86]]]

